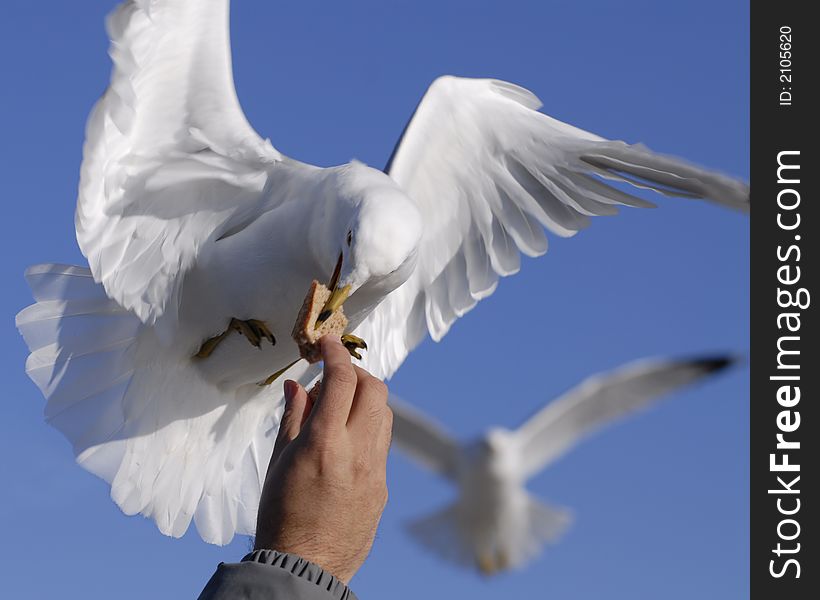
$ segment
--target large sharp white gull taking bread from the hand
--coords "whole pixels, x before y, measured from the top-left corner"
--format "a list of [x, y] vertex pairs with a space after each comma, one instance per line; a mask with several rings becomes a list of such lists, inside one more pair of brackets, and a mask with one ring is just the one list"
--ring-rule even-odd
[[[442, 77], [387, 168], [286, 157], [242, 113], [229, 0], [130, 0], [108, 19], [111, 83], [86, 130], [76, 212], [90, 268], [27, 271], [17, 325], [45, 414], [127, 514], [227, 543], [254, 531], [281, 377], [313, 279], [352, 352], [389, 377], [428, 334], [619, 205], [610, 187], [744, 210], [739, 181], [556, 121], [511, 83]], [[283, 88], [284, 89], [284, 88]], [[250, 343], [249, 343], [250, 342]], [[269, 385], [260, 385], [269, 384]]]

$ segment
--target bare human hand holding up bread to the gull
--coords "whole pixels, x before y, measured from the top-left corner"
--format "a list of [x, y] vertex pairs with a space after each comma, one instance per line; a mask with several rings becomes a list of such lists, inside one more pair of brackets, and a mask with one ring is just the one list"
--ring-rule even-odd
[[315, 403], [285, 382], [285, 412], [268, 466], [255, 549], [298, 554], [345, 583], [361, 567], [387, 503], [393, 413], [387, 386], [350, 362], [338, 338], [321, 340]]

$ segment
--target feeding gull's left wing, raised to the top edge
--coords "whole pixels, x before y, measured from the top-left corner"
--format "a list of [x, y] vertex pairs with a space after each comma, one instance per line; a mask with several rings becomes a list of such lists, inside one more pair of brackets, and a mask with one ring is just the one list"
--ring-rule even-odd
[[77, 240], [96, 281], [143, 322], [175, 316], [179, 275], [280, 154], [233, 84], [229, 0], [129, 0], [108, 18], [111, 83], [93, 109]]

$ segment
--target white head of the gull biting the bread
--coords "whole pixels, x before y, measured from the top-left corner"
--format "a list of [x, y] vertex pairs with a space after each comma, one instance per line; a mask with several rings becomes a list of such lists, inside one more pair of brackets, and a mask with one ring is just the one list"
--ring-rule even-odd
[[381, 171], [354, 162], [337, 185], [326, 249], [335, 269], [325, 308], [332, 311], [344, 303], [348, 318], [355, 320], [413, 272], [422, 220], [412, 200]]

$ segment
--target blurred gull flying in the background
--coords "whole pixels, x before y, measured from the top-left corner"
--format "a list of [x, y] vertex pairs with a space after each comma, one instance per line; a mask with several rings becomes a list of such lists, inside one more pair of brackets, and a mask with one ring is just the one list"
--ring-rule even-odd
[[464, 444], [391, 396], [393, 445], [459, 489], [453, 504], [410, 523], [411, 535], [443, 558], [488, 575], [522, 566], [556, 541], [571, 520], [568, 510], [533, 498], [524, 487], [528, 479], [583, 437], [731, 362], [634, 362], [589, 377], [515, 431], [492, 428]]

